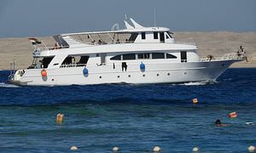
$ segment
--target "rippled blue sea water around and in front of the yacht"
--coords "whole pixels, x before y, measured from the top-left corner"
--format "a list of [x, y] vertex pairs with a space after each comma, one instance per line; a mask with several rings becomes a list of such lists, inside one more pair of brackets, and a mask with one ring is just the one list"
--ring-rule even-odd
[[[74, 152], [152, 152], [158, 145], [167, 153], [240, 153], [256, 146], [253, 68], [181, 84], [18, 87], [8, 76], [0, 71], [0, 152], [73, 152], [73, 145]], [[228, 126], [215, 126], [218, 118]]]

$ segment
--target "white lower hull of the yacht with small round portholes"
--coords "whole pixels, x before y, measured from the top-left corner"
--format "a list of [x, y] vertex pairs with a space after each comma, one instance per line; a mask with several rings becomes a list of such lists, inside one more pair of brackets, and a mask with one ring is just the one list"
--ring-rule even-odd
[[[27, 70], [18, 85], [54, 86], [54, 85], [86, 85], [102, 83], [166, 83], [166, 82], [201, 82], [216, 80], [235, 60], [220, 60], [190, 63], [158, 63], [146, 64], [141, 71], [137, 65], [129, 65], [127, 71], [121, 66], [112, 65], [87, 66], [89, 75], [84, 77], [84, 67], [67, 67], [45, 69], [47, 77], [41, 76], [42, 69]], [[134, 71], [131, 71], [134, 70]]]

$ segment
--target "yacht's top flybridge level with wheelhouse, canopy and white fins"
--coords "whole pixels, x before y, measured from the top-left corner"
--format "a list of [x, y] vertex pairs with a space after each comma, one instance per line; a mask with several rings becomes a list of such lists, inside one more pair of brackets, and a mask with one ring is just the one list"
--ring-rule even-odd
[[[62, 39], [71, 47], [96, 44], [134, 43], [134, 42], [174, 42], [172, 32], [166, 27], [144, 27], [130, 18], [125, 20], [125, 29], [119, 30], [114, 24], [113, 31], [93, 31], [61, 34]], [[116, 30], [114, 30], [116, 27]], [[60, 42], [60, 41], [57, 41]], [[62, 41], [63, 42], [63, 41]], [[62, 44], [62, 43], [61, 43]]]

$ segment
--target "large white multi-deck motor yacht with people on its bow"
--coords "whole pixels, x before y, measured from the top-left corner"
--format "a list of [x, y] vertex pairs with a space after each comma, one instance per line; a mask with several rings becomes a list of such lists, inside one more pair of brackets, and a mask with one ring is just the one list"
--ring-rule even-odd
[[214, 81], [244, 59], [236, 53], [201, 59], [195, 44], [177, 42], [169, 28], [144, 27], [131, 18], [125, 26], [56, 35], [52, 48], [39, 48], [38, 39], [30, 38], [32, 65], [15, 70], [9, 81], [36, 86]]

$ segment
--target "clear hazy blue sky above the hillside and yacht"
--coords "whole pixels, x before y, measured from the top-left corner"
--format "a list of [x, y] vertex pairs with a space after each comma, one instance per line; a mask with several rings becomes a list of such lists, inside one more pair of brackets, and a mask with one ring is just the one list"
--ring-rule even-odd
[[172, 31], [256, 31], [256, 0], [0, 0], [0, 37], [44, 37], [143, 26]]

